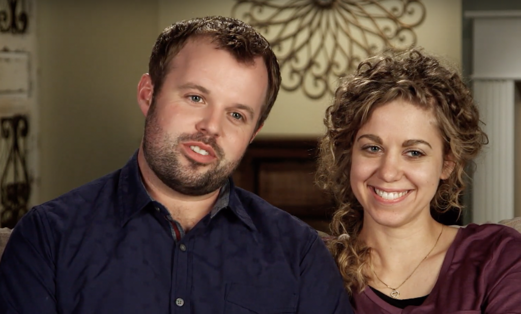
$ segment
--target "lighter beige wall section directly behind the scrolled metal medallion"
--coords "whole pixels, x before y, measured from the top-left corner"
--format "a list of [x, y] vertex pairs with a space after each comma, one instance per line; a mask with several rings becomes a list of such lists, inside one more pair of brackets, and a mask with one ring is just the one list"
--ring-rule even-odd
[[[230, 16], [235, 0], [192, 0], [179, 5], [159, 0], [159, 30], [173, 22], [194, 16]], [[424, 0], [426, 20], [418, 27], [418, 45], [461, 63], [461, 0]], [[317, 136], [324, 130], [322, 120], [330, 97], [306, 98], [300, 91], [281, 90], [261, 135]]]

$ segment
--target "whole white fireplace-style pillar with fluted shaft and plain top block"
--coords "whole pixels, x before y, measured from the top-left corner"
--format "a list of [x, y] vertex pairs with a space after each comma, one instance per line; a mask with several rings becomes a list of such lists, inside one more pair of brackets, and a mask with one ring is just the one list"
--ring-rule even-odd
[[[469, 11], [473, 19], [473, 87], [489, 145], [477, 160], [473, 222], [515, 213], [515, 82], [521, 81], [521, 11]], [[517, 139], [519, 140], [519, 139]]]

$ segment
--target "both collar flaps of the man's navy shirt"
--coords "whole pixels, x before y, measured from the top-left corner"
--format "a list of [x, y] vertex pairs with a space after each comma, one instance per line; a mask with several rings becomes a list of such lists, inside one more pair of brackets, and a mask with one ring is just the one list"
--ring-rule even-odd
[[[121, 168], [118, 189], [118, 202], [121, 212], [121, 226], [124, 226], [131, 218], [137, 215], [153, 200], [148, 195], [138, 165], [138, 150], [132, 158]], [[257, 230], [250, 215], [244, 209], [239, 196], [237, 187], [233, 180], [229, 178], [226, 185], [219, 191], [219, 196], [215, 202], [210, 218], [214, 218], [223, 208], [229, 207], [230, 210], [250, 229]]]

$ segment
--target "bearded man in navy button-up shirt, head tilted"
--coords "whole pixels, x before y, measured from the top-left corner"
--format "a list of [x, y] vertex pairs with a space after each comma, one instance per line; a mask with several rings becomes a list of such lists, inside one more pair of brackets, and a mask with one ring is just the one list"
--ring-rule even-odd
[[23, 217], [0, 263], [0, 313], [351, 313], [317, 232], [230, 179], [279, 85], [249, 25], [167, 28], [138, 84], [141, 147]]

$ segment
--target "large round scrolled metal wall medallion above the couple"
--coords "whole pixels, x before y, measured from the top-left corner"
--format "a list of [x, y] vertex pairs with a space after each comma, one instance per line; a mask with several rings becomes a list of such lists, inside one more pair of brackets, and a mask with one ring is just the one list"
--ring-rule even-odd
[[263, 33], [279, 59], [282, 85], [312, 99], [386, 47], [416, 44], [422, 0], [237, 0], [232, 16]]

